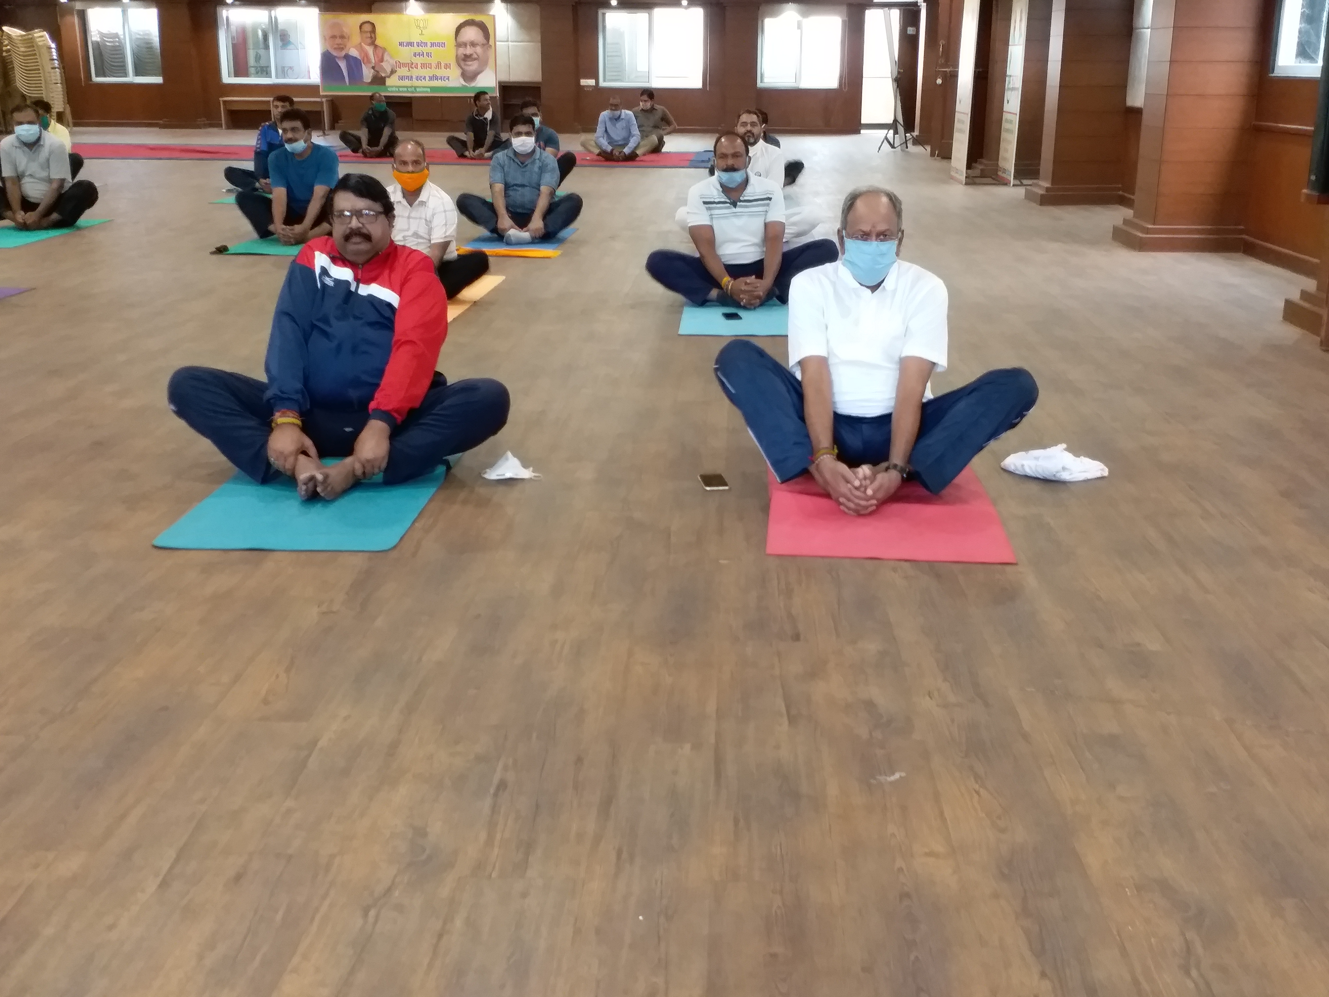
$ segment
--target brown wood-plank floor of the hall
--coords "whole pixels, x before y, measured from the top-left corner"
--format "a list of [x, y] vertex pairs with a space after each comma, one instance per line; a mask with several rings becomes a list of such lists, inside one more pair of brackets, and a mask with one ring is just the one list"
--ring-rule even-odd
[[[496, 261], [441, 366], [512, 420], [395, 550], [154, 550], [230, 473], [166, 379], [260, 372], [283, 265], [207, 255], [219, 164], [89, 162], [114, 222], [0, 251], [0, 994], [1329, 993], [1302, 280], [876, 141], [787, 152], [904, 195], [938, 387], [1038, 378], [975, 463], [1014, 568], [764, 556], [720, 340], [643, 271], [692, 170], [579, 169], [563, 255]], [[997, 467], [1057, 443], [1111, 477]]]

